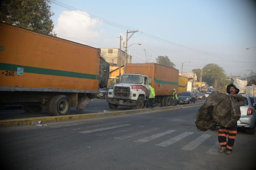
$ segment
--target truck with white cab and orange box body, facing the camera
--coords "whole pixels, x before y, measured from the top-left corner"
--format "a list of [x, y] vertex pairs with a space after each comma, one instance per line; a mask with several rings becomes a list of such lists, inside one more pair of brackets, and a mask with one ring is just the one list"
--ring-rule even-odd
[[154, 88], [154, 104], [170, 106], [173, 88], [178, 90], [178, 73], [174, 68], [156, 63], [127, 64], [121, 82], [109, 90], [107, 102], [115, 109], [118, 105], [142, 109], [148, 99], [149, 84]]

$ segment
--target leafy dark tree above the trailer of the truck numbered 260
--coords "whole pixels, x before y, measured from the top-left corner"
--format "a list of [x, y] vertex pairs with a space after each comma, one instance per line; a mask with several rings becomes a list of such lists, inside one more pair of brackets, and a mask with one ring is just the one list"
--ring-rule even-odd
[[1, 0], [0, 21], [56, 36], [49, 3], [50, 0]]

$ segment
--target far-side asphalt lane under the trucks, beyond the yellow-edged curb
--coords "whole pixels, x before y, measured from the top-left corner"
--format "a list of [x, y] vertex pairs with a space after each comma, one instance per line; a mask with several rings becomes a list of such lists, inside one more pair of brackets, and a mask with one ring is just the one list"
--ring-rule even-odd
[[[197, 103], [205, 102], [205, 100], [197, 100]], [[154, 106], [160, 106], [154, 105]], [[108, 102], [106, 99], [97, 99], [94, 98], [90, 101], [89, 105], [83, 109], [82, 111], [78, 111], [75, 108], [71, 108], [69, 115], [76, 115], [76, 114], [84, 114], [84, 113], [99, 113], [104, 111], [123, 111], [131, 109], [128, 106], [118, 106], [117, 109], [110, 109]], [[28, 113], [21, 109], [21, 106], [6, 106], [4, 110], [0, 110], [0, 120], [8, 120], [8, 119], [22, 119], [22, 118], [29, 118], [29, 117], [43, 117], [49, 116], [47, 111], [41, 111], [40, 113]]]

